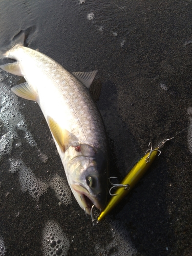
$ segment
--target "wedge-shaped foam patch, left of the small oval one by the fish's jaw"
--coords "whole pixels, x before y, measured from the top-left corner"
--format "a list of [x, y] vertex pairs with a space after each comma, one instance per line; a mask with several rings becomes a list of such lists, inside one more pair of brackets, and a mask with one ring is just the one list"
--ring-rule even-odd
[[48, 184], [37, 178], [32, 170], [28, 168], [22, 160], [18, 160], [19, 165], [19, 182], [23, 192], [29, 191], [31, 197], [38, 201], [39, 197], [44, 194], [48, 188]]

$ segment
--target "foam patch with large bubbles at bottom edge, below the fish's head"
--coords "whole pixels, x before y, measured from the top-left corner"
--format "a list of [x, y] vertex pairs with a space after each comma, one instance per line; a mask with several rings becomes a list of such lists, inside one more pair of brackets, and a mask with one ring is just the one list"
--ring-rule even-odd
[[42, 233], [42, 251], [45, 256], [68, 253], [70, 241], [58, 223], [48, 221]]

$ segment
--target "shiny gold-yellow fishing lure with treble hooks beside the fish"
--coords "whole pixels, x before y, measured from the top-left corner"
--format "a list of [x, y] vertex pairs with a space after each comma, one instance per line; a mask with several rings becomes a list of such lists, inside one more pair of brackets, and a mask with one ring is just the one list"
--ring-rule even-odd
[[[131, 171], [126, 175], [123, 179], [121, 184], [113, 184], [111, 182], [112, 178], [110, 177], [110, 183], [113, 187], [110, 189], [110, 195], [112, 196], [111, 200], [109, 201], [108, 205], [106, 205], [105, 209], [101, 212], [97, 219], [94, 218], [93, 208], [91, 209], [91, 217], [92, 217], [92, 224], [95, 226], [97, 225], [109, 212], [125, 197], [129, 191], [138, 183], [138, 181], [143, 177], [146, 173], [146, 170], [151, 166], [157, 156], [161, 154], [160, 148], [165, 144], [166, 141], [173, 139], [165, 139], [161, 141], [156, 148], [152, 148], [152, 143], [150, 142], [148, 146], [151, 145], [151, 149], [147, 150], [145, 155], [139, 160], [138, 163], [134, 165]], [[117, 187], [115, 194], [111, 193], [113, 188]]]

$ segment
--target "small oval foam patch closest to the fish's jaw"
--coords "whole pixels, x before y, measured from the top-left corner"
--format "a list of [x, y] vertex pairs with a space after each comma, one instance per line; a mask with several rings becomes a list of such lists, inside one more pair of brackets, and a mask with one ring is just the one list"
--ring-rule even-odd
[[61, 203], [65, 205], [72, 203], [71, 189], [67, 180], [55, 175], [50, 182], [50, 187], [55, 190], [56, 197]]

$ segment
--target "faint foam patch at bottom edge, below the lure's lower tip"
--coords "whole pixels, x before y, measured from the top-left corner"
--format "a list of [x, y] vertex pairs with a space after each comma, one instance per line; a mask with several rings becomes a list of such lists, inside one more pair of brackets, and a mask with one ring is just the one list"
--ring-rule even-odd
[[113, 256], [131, 256], [135, 255], [136, 249], [133, 247], [129, 237], [127, 236], [127, 231], [118, 222], [111, 222], [111, 230], [113, 241], [109, 243], [106, 248], [102, 248], [100, 244], [95, 246], [95, 251], [98, 255], [113, 255]]

